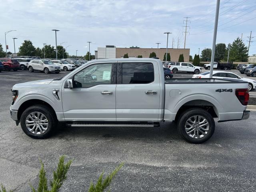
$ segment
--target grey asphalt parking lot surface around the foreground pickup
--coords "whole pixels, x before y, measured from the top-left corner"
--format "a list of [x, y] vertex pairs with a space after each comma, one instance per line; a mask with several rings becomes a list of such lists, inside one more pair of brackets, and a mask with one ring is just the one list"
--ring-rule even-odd
[[8, 189], [31, 191], [29, 184], [38, 182], [39, 158], [52, 178], [58, 157], [64, 154], [73, 162], [61, 192], [87, 191], [102, 170], [109, 173], [120, 162], [125, 165], [110, 185], [113, 192], [255, 191], [256, 112], [251, 112], [248, 120], [216, 122], [214, 135], [204, 144], [185, 142], [172, 123], [162, 123], [160, 128], [70, 128], [59, 124], [51, 138], [26, 136], [10, 118], [11, 87], [67, 73], [0, 73], [0, 183]]

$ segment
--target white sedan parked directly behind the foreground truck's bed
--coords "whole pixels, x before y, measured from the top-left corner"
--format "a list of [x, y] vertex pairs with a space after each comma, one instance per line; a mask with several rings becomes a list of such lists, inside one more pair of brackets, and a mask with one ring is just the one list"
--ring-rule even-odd
[[[193, 75], [192, 78], [210, 78], [210, 72], [204, 72], [202, 74]], [[239, 79], [245, 82], [248, 82], [248, 91], [256, 89], [256, 81], [249, 79], [249, 78], [243, 78], [238, 76], [237, 74], [234, 74], [232, 72], [226, 72], [226, 71], [213, 71], [212, 78], [218, 78], [218, 79]]]

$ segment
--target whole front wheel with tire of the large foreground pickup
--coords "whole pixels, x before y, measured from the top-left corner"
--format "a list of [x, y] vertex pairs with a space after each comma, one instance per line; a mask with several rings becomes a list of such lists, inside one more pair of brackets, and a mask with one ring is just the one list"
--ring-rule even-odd
[[28, 107], [20, 118], [20, 126], [24, 133], [35, 139], [50, 136], [56, 125], [54, 112], [48, 106], [40, 104]]

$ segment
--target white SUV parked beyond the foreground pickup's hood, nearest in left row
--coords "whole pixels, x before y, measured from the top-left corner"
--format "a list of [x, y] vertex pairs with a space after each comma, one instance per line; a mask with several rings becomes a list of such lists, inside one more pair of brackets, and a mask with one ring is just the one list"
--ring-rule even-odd
[[54, 65], [51, 61], [46, 60], [46, 59], [36, 59], [36, 60], [31, 60], [28, 63], [28, 70], [30, 72], [34, 72], [35, 70], [37, 71], [43, 71], [45, 74], [55, 72], [55, 73], [60, 73], [60, 66]]

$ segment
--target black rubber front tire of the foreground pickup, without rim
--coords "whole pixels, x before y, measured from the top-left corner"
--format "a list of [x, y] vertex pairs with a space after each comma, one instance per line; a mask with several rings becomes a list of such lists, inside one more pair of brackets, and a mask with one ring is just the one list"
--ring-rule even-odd
[[[32, 112], [40, 112], [44, 114], [44, 116], [46, 116], [48, 120], [48, 128], [44, 133], [34, 134], [27, 129], [26, 117]], [[43, 138], [49, 137], [52, 134], [54, 128], [56, 128], [57, 124], [58, 124], [58, 121], [56, 119], [56, 114], [54, 113], [54, 111], [52, 111], [52, 109], [49, 108], [48, 106], [40, 105], [40, 104], [28, 107], [26, 110], [24, 110], [20, 118], [20, 126], [24, 131], [24, 133], [35, 139], [43, 139]]]

